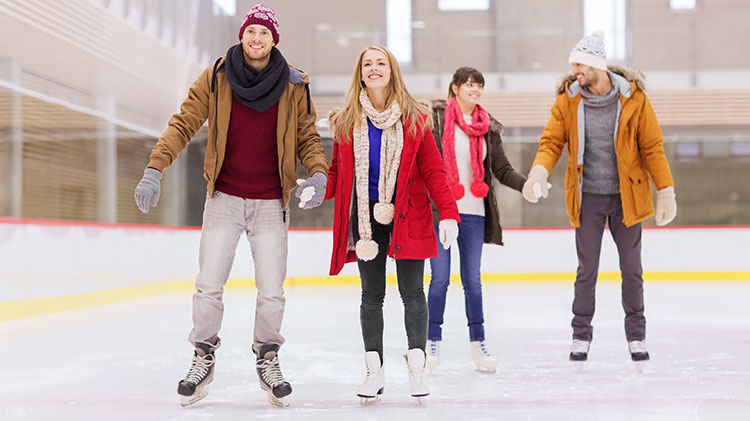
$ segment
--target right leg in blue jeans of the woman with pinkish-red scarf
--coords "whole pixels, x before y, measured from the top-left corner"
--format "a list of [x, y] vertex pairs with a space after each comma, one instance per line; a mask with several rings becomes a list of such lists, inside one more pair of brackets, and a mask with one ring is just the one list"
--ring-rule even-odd
[[482, 277], [480, 266], [484, 247], [484, 217], [461, 215], [458, 223], [458, 250], [461, 256], [461, 284], [464, 287], [469, 340], [484, 340]]

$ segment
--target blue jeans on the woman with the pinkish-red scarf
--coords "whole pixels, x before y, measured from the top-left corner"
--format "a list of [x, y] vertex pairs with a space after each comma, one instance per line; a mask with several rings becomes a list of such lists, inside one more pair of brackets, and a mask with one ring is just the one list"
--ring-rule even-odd
[[[438, 227], [435, 226], [437, 233]], [[484, 340], [484, 312], [482, 311], [482, 279], [480, 263], [484, 246], [484, 217], [461, 214], [458, 223], [458, 254], [461, 259], [461, 284], [464, 287], [466, 318], [469, 321], [469, 340]], [[445, 295], [451, 276], [451, 252], [438, 242], [438, 257], [430, 259], [432, 278], [427, 305], [430, 323], [427, 338], [442, 339]]]

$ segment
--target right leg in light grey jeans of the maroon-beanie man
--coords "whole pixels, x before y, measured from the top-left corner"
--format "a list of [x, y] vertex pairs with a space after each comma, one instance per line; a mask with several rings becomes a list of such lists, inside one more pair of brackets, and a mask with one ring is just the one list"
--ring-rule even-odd
[[255, 264], [255, 287], [258, 289], [253, 351], [262, 357], [261, 348], [264, 346], [267, 350], [278, 351], [284, 344], [281, 322], [286, 303], [284, 279], [289, 220], [284, 215], [281, 199], [245, 202], [250, 208], [247, 238]]

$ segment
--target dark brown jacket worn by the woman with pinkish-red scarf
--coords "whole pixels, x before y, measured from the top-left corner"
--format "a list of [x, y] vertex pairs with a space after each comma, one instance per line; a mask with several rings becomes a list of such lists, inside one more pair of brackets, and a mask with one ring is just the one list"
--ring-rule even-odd
[[[445, 120], [445, 101], [430, 101], [432, 108], [432, 134], [435, 137], [440, 154], [443, 153], [443, 122]], [[484, 182], [490, 186], [487, 196], [484, 197], [484, 242], [503, 245], [503, 230], [500, 226], [500, 211], [497, 208], [497, 199], [492, 189], [492, 175], [513, 190], [521, 191], [526, 182], [526, 176], [518, 173], [508, 161], [503, 149], [502, 138], [503, 125], [490, 116], [490, 129], [484, 135], [484, 147], [487, 148], [487, 157], [484, 159]], [[435, 204], [432, 205], [433, 220], [435, 223], [440, 219]]]

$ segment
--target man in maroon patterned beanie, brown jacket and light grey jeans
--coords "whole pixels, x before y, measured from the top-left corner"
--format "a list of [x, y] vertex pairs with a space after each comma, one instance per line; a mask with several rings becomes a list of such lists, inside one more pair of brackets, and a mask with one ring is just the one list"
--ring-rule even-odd
[[239, 39], [190, 87], [135, 190], [141, 211], [156, 206], [162, 172], [208, 119], [203, 165], [208, 195], [189, 336], [195, 352], [177, 389], [183, 406], [205, 397], [213, 380], [224, 285], [243, 234], [250, 242], [258, 289], [253, 337], [258, 378], [272, 404], [289, 405], [292, 388], [281, 372], [278, 351], [284, 343], [288, 205], [297, 186], [296, 159], [311, 175], [297, 189], [300, 207], [319, 206], [327, 181], [308, 77], [289, 66], [275, 47], [279, 27], [273, 10], [254, 6]]

